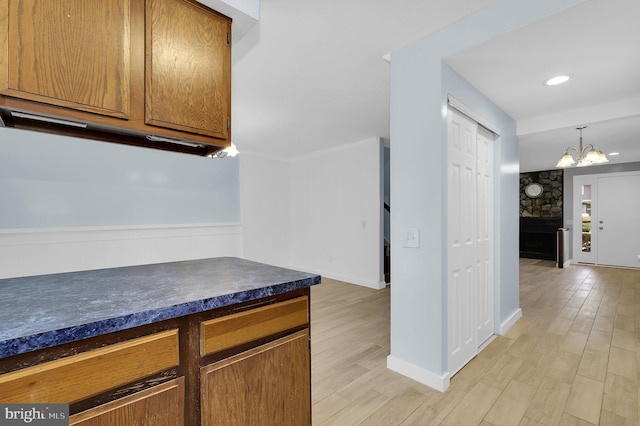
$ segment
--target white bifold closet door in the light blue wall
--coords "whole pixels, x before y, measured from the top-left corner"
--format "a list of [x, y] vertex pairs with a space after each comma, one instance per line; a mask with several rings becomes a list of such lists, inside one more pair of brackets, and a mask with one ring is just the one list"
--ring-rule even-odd
[[455, 374], [494, 334], [493, 133], [448, 112], [447, 338]]

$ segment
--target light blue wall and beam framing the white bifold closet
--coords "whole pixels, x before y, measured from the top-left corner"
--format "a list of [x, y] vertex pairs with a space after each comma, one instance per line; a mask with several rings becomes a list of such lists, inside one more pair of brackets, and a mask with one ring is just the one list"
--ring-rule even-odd
[[[518, 147], [513, 121], [448, 67], [447, 56], [581, 0], [499, 0], [391, 54], [391, 357], [444, 376], [446, 357], [446, 94], [503, 127], [496, 155], [499, 318], [518, 306]], [[403, 248], [405, 228], [420, 247]], [[498, 324], [499, 325], [499, 324]]]

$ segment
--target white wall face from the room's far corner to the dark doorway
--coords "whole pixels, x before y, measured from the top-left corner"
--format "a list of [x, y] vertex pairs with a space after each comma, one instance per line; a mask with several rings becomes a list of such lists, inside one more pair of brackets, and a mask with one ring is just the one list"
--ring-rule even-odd
[[380, 138], [291, 164], [291, 266], [371, 288], [382, 270]]

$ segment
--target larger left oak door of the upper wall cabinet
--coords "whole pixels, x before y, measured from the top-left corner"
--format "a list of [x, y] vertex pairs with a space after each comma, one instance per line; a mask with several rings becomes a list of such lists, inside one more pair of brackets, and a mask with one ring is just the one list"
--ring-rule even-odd
[[129, 0], [3, 3], [1, 94], [128, 118]]

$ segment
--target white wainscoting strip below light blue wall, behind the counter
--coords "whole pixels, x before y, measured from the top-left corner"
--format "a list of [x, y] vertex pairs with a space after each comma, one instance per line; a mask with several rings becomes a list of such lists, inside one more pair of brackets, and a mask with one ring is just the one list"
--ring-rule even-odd
[[239, 223], [0, 230], [0, 278], [242, 256]]

